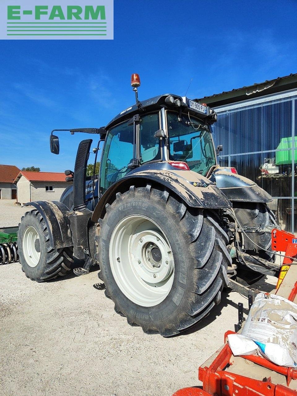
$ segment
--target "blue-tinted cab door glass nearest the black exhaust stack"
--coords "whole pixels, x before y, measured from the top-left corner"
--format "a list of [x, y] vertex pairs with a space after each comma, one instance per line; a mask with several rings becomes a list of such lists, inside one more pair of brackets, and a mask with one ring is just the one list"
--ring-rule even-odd
[[110, 129], [107, 133], [100, 165], [100, 190], [105, 192], [113, 183], [131, 170], [133, 160], [133, 125], [128, 121]]

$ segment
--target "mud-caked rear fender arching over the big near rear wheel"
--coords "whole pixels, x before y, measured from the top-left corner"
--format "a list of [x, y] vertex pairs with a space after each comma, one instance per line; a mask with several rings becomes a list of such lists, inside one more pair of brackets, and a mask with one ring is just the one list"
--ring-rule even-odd
[[99, 200], [93, 212], [92, 221], [98, 221], [105, 210], [105, 205], [112, 200], [116, 192], [123, 192], [125, 188], [128, 190], [129, 186], [137, 185], [137, 183], [144, 184], [148, 181], [158, 183], [173, 191], [192, 208], [231, 208], [230, 201], [215, 183], [206, 177], [193, 171], [161, 169], [158, 167], [159, 164], [153, 165], [142, 167], [142, 170], [135, 169], [110, 186]]

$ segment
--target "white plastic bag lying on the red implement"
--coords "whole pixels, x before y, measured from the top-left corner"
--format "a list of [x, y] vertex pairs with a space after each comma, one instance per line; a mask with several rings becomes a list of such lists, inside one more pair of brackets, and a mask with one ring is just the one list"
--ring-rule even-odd
[[228, 335], [233, 355], [262, 354], [278, 366], [297, 366], [297, 304], [259, 293], [241, 334]]

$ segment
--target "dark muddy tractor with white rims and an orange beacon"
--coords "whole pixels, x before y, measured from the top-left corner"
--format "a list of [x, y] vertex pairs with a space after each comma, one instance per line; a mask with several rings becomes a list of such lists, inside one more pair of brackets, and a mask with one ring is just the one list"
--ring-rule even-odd
[[[208, 315], [229, 280], [247, 286], [276, 273], [276, 221], [267, 192], [218, 165], [214, 110], [172, 94], [140, 102], [139, 85], [133, 74], [136, 104], [106, 127], [70, 129], [100, 136], [93, 175], [87, 139], [65, 171], [73, 187], [61, 200], [26, 204], [33, 209], [19, 225], [19, 261], [37, 282], [99, 265], [116, 312], [171, 336]], [[55, 131], [50, 147], [59, 154]]]

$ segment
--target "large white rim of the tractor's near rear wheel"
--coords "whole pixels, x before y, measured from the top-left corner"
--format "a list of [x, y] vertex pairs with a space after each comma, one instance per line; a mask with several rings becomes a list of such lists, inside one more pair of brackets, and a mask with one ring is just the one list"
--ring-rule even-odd
[[112, 232], [109, 262], [116, 284], [133, 303], [160, 304], [169, 294], [174, 261], [169, 242], [150, 219], [131, 215]]

